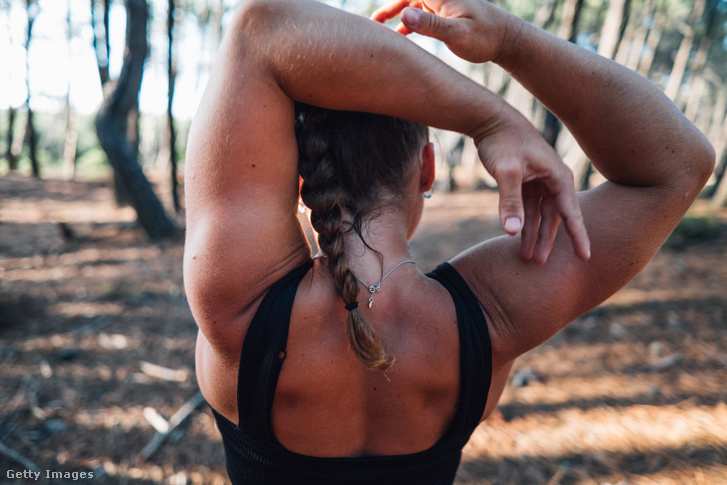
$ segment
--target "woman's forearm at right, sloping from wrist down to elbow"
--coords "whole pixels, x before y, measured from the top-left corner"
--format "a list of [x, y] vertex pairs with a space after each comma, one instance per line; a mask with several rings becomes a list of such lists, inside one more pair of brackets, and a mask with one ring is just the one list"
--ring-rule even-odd
[[496, 62], [563, 121], [609, 180], [704, 183], [711, 146], [656, 86], [522, 20], [511, 22]]

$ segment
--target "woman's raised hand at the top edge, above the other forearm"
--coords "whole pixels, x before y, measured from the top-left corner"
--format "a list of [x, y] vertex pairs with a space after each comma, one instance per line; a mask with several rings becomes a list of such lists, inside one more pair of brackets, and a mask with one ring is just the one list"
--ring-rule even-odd
[[444, 42], [470, 62], [497, 61], [520, 19], [482, 0], [393, 0], [371, 18], [386, 22], [401, 15], [396, 31], [416, 32]]

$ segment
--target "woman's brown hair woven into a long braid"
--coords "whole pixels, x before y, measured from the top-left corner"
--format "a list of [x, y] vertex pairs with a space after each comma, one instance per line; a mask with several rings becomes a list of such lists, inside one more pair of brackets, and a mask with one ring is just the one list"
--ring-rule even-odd
[[296, 104], [295, 132], [301, 199], [348, 310], [351, 348], [365, 367], [387, 371], [394, 357], [358, 309], [358, 280], [348, 268], [344, 234], [354, 231], [371, 249], [362, 221], [404, 192], [428, 129], [390, 116]]

